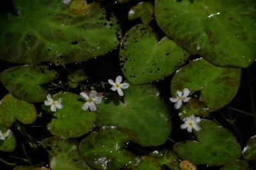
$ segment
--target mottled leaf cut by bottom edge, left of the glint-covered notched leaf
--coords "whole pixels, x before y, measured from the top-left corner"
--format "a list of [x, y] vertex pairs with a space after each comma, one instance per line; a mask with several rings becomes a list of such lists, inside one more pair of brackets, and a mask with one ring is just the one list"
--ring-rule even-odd
[[52, 170], [90, 170], [78, 151], [76, 141], [67, 139], [47, 138], [42, 146], [49, 153], [49, 164]]

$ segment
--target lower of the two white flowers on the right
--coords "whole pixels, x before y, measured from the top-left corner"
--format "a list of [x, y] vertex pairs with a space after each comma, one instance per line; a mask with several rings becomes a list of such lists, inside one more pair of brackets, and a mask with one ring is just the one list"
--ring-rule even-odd
[[187, 129], [188, 132], [192, 132], [192, 129], [195, 131], [200, 131], [201, 128], [197, 125], [201, 121], [200, 117], [195, 117], [191, 115], [183, 119], [184, 124], [180, 125], [181, 129]]

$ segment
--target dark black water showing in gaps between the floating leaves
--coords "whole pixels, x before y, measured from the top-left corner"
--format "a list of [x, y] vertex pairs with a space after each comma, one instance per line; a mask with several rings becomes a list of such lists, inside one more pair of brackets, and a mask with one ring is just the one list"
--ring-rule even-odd
[[[131, 3], [118, 4], [115, 1], [106, 1], [102, 3], [102, 7], [106, 8], [109, 12], [113, 12], [115, 16], [118, 18], [120, 25], [122, 27], [122, 34], [124, 35], [131, 27], [136, 24], [140, 24], [140, 20], [127, 20], [127, 12], [129, 9], [137, 4], [140, 1], [132, 1]], [[149, 1], [154, 4], [153, 0]], [[12, 3], [9, 1], [5, 1], [0, 8], [0, 12], [10, 12], [13, 11]], [[1, 21], [0, 21], [1, 22]], [[164, 34], [157, 26], [156, 22], [153, 20], [150, 23], [150, 26], [153, 27], [154, 31], [157, 32], [159, 39], [161, 39]], [[87, 84], [95, 85], [95, 83], [99, 84], [100, 81], [108, 81], [108, 78], [115, 78], [117, 75], [122, 75], [122, 71], [120, 70], [119, 61], [118, 61], [118, 48], [109, 52], [107, 55], [102, 57], [97, 57], [97, 59], [92, 59], [87, 62], [77, 62], [73, 64], [67, 64], [67, 69], [64, 69], [61, 66], [54, 66], [50, 63], [44, 63], [47, 66], [50, 66], [58, 73], [60, 73], [60, 78], [55, 82], [59, 81], [66, 82], [67, 74], [72, 71], [76, 71], [77, 69], [84, 69], [84, 73], [89, 76]], [[1, 54], [0, 54], [1, 55]], [[191, 56], [191, 59], [196, 59], [200, 56]], [[5, 62], [0, 60], [0, 71], [7, 69], [8, 67], [15, 66], [15, 64], [11, 64], [9, 62]], [[100, 69], [99, 69], [100, 68]], [[158, 87], [161, 91], [161, 96], [166, 101], [166, 103], [170, 103], [170, 81], [172, 80], [172, 76], [168, 76], [164, 78], [164, 80], [160, 80], [154, 82], [153, 84]], [[65, 89], [58, 89], [65, 90]], [[104, 90], [104, 89], [97, 89]], [[256, 63], [252, 64], [252, 66], [247, 69], [242, 69], [242, 78], [241, 78], [241, 87], [237, 92], [237, 96], [233, 99], [233, 101], [228, 104], [225, 108], [215, 111], [211, 113], [211, 118], [216, 120], [219, 124], [223, 125], [223, 127], [227, 128], [229, 131], [233, 132], [237, 138], [237, 141], [241, 144], [242, 148], [246, 144], [246, 141], [252, 136], [256, 134], [256, 119], [250, 115], [245, 115], [241, 113], [241, 111], [245, 111], [247, 113], [252, 113], [256, 115]], [[74, 91], [78, 93], [77, 91]], [[2, 98], [6, 91], [0, 83], [0, 97]], [[241, 111], [230, 110], [231, 108], [236, 108]], [[38, 109], [38, 113], [40, 113], [40, 104], [36, 105]], [[127, 148], [132, 150], [132, 152], [138, 155], [145, 155], [153, 150], [162, 148], [170, 148], [172, 149], [173, 141], [183, 141], [191, 138], [188, 136], [189, 134], [186, 131], [180, 129], [180, 124], [182, 123], [178, 117], [178, 111], [173, 109], [173, 104], [170, 104], [170, 113], [172, 115], [172, 124], [173, 130], [170, 136], [171, 140], [166, 141], [166, 144], [157, 148], [145, 148], [134, 143], [130, 143]], [[38, 118], [35, 123], [32, 125], [22, 125], [19, 122], [15, 123], [12, 126], [12, 131], [14, 131], [15, 136], [17, 138], [17, 148], [15, 152], [12, 153], [3, 153], [0, 152], [0, 158], [4, 159], [8, 162], [15, 162], [18, 165], [29, 165], [31, 164], [42, 164], [44, 166], [47, 165], [47, 153], [42, 149], [42, 147], [37, 146], [36, 148], [31, 148], [29, 146], [29, 142], [31, 138], [35, 139], [32, 141], [41, 141], [44, 138], [51, 136], [49, 131], [46, 129], [47, 122], [51, 120], [51, 117], [44, 115], [42, 118]], [[20, 131], [17, 130], [17, 127], [20, 127]], [[23, 146], [22, 146], [23, 145]], [[22, 149], [24, 148], [24, 149]], [[26, 153], [24, 152], [26, 150]], [[13, 157], [10, 157], [13, 156]], [[26, 156], [28, 155], [28, 156]], [[14, 157], [19, 157], [22, 159], [29, 159], [29, 162], [24, 160], [20, 160]], [[252, 169], [256, 169], [255, 162], [249, 162]], [[7, 166], [3, 162], [0, 161], [0, 169], [12, 169], [13, 166]], [[208, 166], [199, 166], [199, 169], [220, 169], [220, 167], [208, 167]]]

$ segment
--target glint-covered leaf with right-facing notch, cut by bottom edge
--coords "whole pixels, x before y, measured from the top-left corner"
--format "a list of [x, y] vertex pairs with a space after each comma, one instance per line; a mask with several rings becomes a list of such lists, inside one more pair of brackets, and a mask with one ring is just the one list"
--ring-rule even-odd
[[124, 149], [134, 138], [134, 133], [124, 129], [104, 127], [83, 139], [79, 151], [86, 162], [96, 169], [132, 169], [138, 166], [138, 158]]

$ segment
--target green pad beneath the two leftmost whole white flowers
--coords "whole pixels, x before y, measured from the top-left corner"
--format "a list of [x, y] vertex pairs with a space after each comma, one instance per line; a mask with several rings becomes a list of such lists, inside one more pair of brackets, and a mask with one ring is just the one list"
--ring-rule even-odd
[[[54, 136], [63, 138], [77, 138], [88, 133], [93, 128], [97, 115], [92, 111], [83, 111], [82, 106], [85, 101], [81, 97], [70, 92], [63, 92], [54, 95], [54, 101], [61, 98], [63, 108], [54, 113], [51, 123], [47, 129]], [[47, 106], [49, 108], [49, 106]]]

